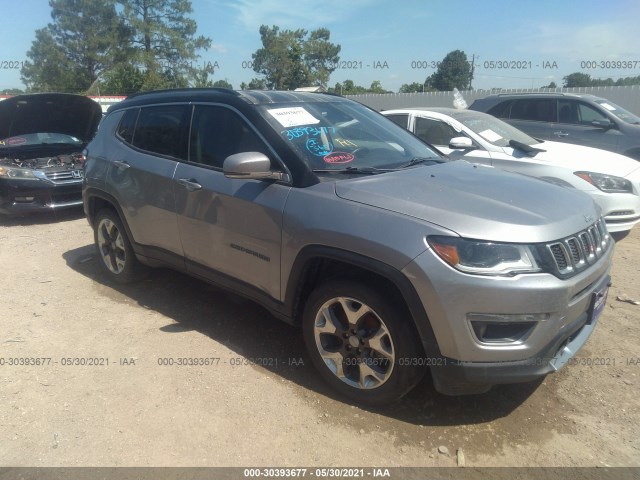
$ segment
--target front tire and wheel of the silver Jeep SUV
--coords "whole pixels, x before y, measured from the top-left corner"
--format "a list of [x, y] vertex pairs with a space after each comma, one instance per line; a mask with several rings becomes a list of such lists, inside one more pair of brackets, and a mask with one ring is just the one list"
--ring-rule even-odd
[[318, 287], [303, 314], [303, 335], [315, 367], [334, 389], [362, 404], [399, 400], [426, 372], [420, 340], [395, 297], [353, 280]]

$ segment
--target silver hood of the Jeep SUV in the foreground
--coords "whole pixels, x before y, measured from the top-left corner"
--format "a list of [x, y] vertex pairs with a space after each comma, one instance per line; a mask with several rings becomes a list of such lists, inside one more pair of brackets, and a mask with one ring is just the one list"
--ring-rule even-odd
[[336, 194], [490, 241], [557, 240], [600, 216], [583, 192], [466, 161], [340, 181]]

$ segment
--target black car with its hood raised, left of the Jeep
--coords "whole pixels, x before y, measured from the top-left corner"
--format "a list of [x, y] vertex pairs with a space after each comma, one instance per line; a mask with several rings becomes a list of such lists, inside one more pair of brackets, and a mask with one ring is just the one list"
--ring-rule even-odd
[[0, 214], [82, 205], [84, 150], [102, 117], [90, 98], [18, 95], [0, 102]]

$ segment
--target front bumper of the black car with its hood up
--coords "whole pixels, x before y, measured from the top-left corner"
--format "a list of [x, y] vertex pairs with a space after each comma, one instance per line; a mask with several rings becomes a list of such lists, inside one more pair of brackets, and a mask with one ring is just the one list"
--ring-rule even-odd
[[64, 184], [0, 179], [0, 214], [3, 215], [44, 212], [81, 205], [81, 179]]

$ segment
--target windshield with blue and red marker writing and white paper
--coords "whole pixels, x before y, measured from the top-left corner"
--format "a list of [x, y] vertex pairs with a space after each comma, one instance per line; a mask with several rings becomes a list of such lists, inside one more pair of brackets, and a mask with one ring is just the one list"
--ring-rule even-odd
[[391, 120], [354, 102], [261, 107], [263, 116], [312, 170], [400, 168], [416, 159], [443, 161]]

